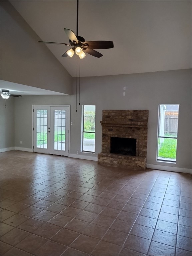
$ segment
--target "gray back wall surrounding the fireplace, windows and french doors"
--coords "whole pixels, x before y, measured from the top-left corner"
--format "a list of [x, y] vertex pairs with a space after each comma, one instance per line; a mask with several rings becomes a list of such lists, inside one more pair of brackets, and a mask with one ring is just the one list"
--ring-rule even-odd
[[[126, 86], [126, 96], [123, 87]], [[101, 152], [102, 110], [149, 110], [147, 163], [191, 169], [191, 69], [140, 74], [83, 77], [80, 105], [73, 96], [25, 96], [15, 101], [15, 146], [32, 148], [32, 104], [71, 105], [70, 153], [81, 150], [81, 107], [96, 105], [95, 156]], [[79, 92], [77, 99], [79, 98]], [[179, 104], [177, 162], [156, 162], [159, 104]], [[94, 156], [81, 153], [81, 155]]]

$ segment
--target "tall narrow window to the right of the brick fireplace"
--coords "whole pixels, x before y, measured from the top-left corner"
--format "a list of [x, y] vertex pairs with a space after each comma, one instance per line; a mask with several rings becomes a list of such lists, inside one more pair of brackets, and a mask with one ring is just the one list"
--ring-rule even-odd
[[159, 105], [157, 160], [176, 162], [179, 105]]

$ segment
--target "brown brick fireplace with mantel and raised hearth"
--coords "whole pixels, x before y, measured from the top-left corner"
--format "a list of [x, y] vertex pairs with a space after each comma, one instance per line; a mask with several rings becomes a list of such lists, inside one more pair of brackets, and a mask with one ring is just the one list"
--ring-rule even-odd
[[[98, 154], [98, 164], [145, 170], [148, 115], [148, 110], [103, 110], [102, 152]], [[114, 137], [118, 138], [117, 150], [111, 145]]]

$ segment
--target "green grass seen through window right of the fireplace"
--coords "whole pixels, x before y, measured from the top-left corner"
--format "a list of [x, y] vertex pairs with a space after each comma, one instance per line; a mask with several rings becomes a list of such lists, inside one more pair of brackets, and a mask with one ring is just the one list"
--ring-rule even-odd
[[158, 141], [158, 157], [176, 159], [177, 139], [164, 138], [160, 146]]

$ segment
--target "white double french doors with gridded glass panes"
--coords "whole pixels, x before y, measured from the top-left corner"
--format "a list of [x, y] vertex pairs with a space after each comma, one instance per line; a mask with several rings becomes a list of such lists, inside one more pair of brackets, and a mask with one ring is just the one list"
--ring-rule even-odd
[[33, 106], [33, 152], [69, 155], [69, 106]]

